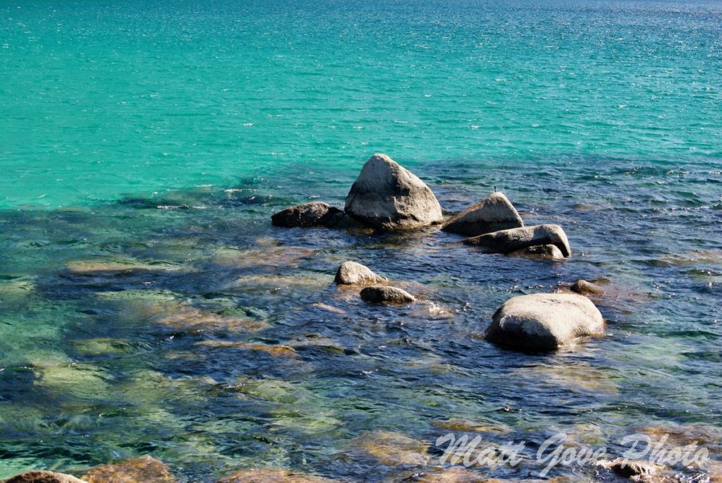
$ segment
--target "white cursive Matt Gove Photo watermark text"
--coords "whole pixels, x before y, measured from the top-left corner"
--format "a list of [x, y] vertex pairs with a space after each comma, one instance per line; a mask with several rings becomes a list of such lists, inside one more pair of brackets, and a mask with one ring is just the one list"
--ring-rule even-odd
[[[624, 461], [648, 461], [651, 464], [666, 466], [704, 466], [709, 460], [707, 448], [697, 441], [684, 446], [668, 445], [669, 435], [653, 440], [648, 435], [627, 435], [619, 440], [618, 445], [627, 448], [619, 455]], [[463, 464], [471, 466], [517, 466], [522, 461], [536, 461], [541, 466], [539, 476], [546, 477], [555, 466], [576, 466], [598, 464], [611, 456], [606, 446], [593, 448], [573, 442], [563, 432], [547, 438], [536, 451], [528, 451], [526, 441], [508, 441], [496, 444], [477, 435], [470, 438], [468, 434], [458, 438], [453, 432], [440, 436], [436, 440], [437, 448], [443, 450], [440, 464]], [[531, 443], [529, 443], [531, 445]], [[536, 447], [536, 444], [533, 445]]]

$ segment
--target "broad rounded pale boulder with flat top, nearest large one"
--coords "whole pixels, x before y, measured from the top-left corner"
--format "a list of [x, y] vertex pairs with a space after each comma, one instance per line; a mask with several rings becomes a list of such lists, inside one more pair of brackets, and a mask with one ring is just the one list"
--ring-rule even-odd
[[555, 293], [510, 298], [494, 314], [485, 338], [513, 349], [548, 352], [603, 333], [604, 320], [591, 300]]

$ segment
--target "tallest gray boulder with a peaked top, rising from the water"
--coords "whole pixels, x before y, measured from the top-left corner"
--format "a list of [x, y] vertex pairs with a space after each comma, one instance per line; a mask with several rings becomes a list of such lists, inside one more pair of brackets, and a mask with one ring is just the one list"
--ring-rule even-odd
[[373, 155], [346, 197], [346, 212], [382, 230], [440, 223], [441, 206], [426, 183], [386, 155]]

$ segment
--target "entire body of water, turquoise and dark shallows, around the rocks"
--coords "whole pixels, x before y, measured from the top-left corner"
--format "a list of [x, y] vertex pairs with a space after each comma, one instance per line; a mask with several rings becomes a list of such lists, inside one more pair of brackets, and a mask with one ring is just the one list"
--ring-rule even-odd
[[[417, 469], [357, 438], [432, 444], [448, 419], [612, 451], [664, 428], [721, 458], [718, 4], [0, 5], [0, 478], [152, 454], [189, 482], [399, 481]], [[573, 258], [270, 226], [342, 206], [377, 151], [448, 212], [498, 186]], [[422, 301], [336, 290], [347, 259]], [[611, 294], [604, 338], [479, 338], [511, 295], [580, 277]]]

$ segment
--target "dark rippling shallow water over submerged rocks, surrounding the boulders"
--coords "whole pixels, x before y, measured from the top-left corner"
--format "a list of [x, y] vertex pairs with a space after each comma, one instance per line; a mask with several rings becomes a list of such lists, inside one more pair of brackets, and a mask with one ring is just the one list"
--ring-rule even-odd
[[[560, 430], [617, 452], [623, 435], [672, 427], [701, 431], [719, 455], [717, 168], [572, 159], [417, 173], [447, 211], [503, 179], [526, 223], [565, 226], [573, 258], [485, 255], [433, 229], [271, 227], [269, 215], [307, 199], [288, 194], [306, 186], [342, 204], [350, 177], [324, 182], [333, 173], [323, 171], [284, 186], [256, 179], [4, 212], [0, 476], [151, 453], [188, 481], [252, 466], [384, 481], [406, 470], [356, 438], [386, 430], [432, 445], [446, 420], [505, 430], [484, 433], [497, 443], [539, 445]], [[337, 289], [347, 259], [421, 301], [376, 307]], [[598, 300], [603, 338], [551, 355], [480, 339], [508, 297], [580, 277], [605, 279], [612, 294]]]

